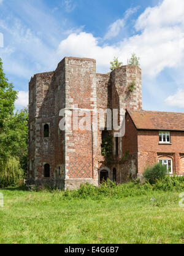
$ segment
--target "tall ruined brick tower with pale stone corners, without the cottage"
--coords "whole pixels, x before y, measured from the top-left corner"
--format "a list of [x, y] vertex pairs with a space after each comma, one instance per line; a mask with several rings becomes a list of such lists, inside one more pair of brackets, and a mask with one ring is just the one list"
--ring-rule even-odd
[[[134, 90], [129, 90], [130, 86]], [[88, 130], [59, 129], [61, 109], [77, 106], [79, 122], [86, 113], [91, 118]], [[64, 58], [53, 72], [31, 77], [29, 82], [28, 184], [48, 184], [59, 188], [77, 188], [101, 179], [124, 181], [122, 138], [115, 131], [93, 128], [96, 109], [142, 109], [141, 70], [121, 66], [110, 74], [97, 74], [96, 61], [90, 58]], [[73, 113], [73, 112], [71, 112]], [[71, 123], [74, 122], [72, 114]], [[119, 111], [120, 122], [120, 111]], [[112, 135], [112, 157], [101, 152], [102, 139]], [[134, 165], [134, 163], [132, 163]], [[134, 169], [134, 166], [132, 166]]]

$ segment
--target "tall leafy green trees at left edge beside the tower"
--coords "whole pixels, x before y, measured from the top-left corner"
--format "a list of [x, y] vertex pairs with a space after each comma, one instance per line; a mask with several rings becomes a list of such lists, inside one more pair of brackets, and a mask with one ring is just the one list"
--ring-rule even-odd
[[[17, 184], [20, 172], [26, 174], [27, 169], [28, 109], [14, 114], [17, 93], [3, 72], [0, 58], [0, 187]], [[12, 177], [12, 170], [13, 178], [7, 179], [10, 183], [2, 181], [5, 175]]]

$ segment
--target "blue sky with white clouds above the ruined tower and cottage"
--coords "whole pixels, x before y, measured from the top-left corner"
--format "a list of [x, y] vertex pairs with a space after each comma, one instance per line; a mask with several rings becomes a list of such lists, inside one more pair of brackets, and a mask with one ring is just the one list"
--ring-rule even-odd
[[140, 57], [144, 110], [184, 112], [183, 0], [0, 0], [0, 58], [28, 105], [28, 83], [64, 56], [96, 59], [109, 72], [118, 57]]

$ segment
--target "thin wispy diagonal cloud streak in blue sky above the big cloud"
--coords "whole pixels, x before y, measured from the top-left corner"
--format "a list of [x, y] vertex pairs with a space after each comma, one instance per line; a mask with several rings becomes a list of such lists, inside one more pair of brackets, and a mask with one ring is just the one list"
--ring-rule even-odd
[[117, 36], [120, 33], [120, 29], [125, 26], [127, 18], [130, 15], [134, 14], [134, 12], [136, 12], [137, 9], [138, 9], [138, 7], [129, 8], [128, 10], [126, 10], [124, 18], [118, 19], [115, 22], [113, 22], [112, 24], [110, 24], [108, 31], [104, 36], [104, 40]]

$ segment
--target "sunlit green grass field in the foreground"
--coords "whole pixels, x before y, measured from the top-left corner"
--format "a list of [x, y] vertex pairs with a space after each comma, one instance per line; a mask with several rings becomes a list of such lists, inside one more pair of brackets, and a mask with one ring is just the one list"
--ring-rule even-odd
[[[63, 192], [1, 189], [1, 243], [183, 243], [178, 192], [65, 199]], [[155, 201], [151, 201], [155, 198]]]

